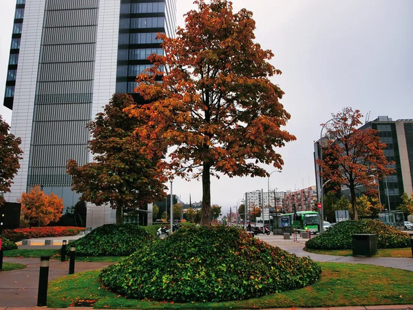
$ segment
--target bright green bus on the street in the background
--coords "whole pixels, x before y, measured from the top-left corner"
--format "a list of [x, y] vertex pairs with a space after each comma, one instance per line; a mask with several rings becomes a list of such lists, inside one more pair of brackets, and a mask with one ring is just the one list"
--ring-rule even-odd
[[297, 211], [297, 215], [294, 213], [286, 213], [279, 217], [282, 226], [308, 230], [313, 234], [319, 231], [320, 215], [316, 211]]

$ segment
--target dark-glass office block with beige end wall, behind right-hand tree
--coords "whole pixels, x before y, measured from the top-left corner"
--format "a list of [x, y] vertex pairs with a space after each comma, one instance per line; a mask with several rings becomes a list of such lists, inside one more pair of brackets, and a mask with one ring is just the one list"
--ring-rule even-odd
[[[388, 116], [379, 116], [374, 121], [367, 122], [360, 127], [360, 129], [368, 128], [379, 132], [381, 142], [387, 145], [383, 152], [388, 161], [394, 162], [390, 167], [395, 169], [396, 173], [379, 180], [380, 202], [388, 211], [394, 211], [402, 203], [403, 192], [408, 196], [413, 193], [413, 119], [393, 121]], [[319, 157], [320, 149], [319, 141], [317, 141], [315, 160]], [[318, 169], [318, 165], [315, 164], [317, 189], [320, 193], [321, 180]], [[324, 187], [323, 192], [325, 192]], [[342, 189], [342, 192], [345, 195], [346, 189]]]

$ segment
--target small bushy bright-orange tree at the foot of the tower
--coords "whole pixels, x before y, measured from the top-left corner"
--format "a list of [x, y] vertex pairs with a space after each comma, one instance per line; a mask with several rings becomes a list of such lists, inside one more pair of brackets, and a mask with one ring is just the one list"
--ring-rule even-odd
[[32, 188], [30, 193], [21, 194], [21, 213], [30, 226], [45, 226], [57, 222], [63, 212], [63, 198], [51, 193], [46, 195], [39, 186]]

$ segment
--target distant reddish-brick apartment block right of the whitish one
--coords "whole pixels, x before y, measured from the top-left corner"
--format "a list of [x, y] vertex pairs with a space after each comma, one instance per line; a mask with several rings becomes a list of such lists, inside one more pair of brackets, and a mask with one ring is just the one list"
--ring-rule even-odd
[[287, 192], [282, 198], [282, 211], [312, 211], [317, 201], [317, 187], [311, 186], [294, 192]]

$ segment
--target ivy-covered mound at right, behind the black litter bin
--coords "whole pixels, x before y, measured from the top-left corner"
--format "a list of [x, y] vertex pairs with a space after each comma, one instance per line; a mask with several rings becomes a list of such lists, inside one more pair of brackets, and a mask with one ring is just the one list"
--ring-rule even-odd
[[378, 249], [410, 247], [410, 237], [379, 220], [344, 220], [306, 242], [308, 249], [352, 249], [352, 235], [376, 234]]

